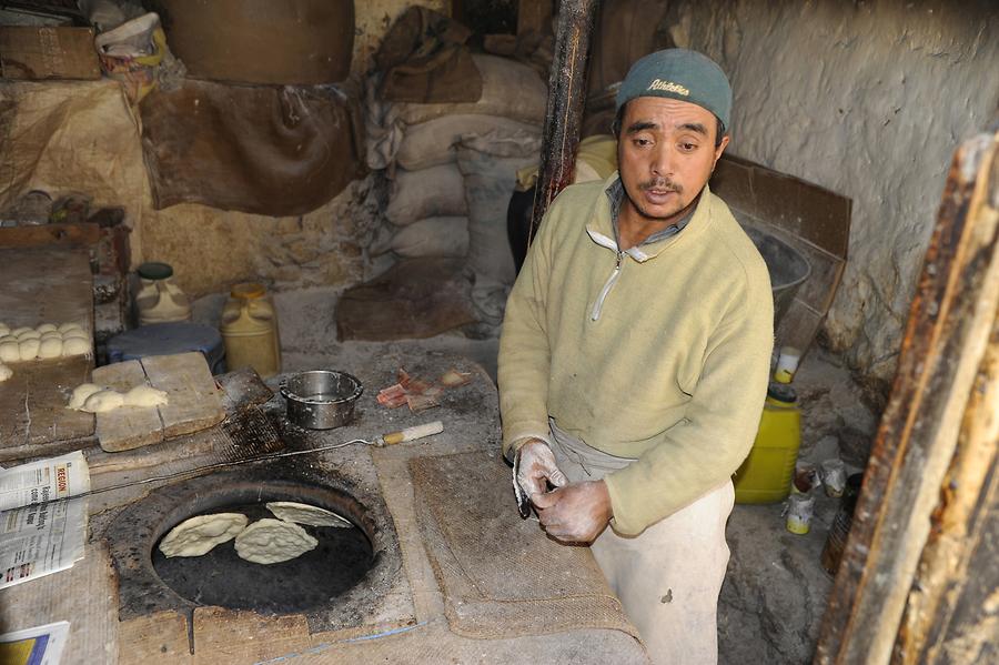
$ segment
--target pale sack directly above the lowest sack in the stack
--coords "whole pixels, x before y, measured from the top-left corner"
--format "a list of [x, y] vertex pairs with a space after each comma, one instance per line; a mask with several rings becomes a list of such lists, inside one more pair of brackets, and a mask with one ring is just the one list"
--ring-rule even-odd
[[425, 218], [461, 216], [467, 211], [462, 172], [455, 164], [442, 164], [396, 171], [385, 216], [396, 226], [405, 226]]

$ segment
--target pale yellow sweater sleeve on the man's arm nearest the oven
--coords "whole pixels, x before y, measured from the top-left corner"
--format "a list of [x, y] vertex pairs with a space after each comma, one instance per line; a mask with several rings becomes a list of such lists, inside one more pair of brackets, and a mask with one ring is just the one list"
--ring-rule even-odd
[[503, 420], [503, 454], [529, 437], [551, 443], [548, 430], [548, 367], [551, 351], [545, 325], [545, 308], [551, 270], [553, 214], [555, 204], [542, 220], [541, 230], [527, 252], [524, 265], [506, 301], [500, 336], [497, 384]]

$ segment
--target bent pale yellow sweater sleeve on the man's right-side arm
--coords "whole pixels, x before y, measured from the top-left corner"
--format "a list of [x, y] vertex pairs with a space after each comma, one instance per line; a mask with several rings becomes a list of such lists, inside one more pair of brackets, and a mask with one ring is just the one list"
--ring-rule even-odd
[[741, 300], [708, 341], [685, 416], [625, 468], [605, 476], [612, 526], [637, 535], [731, 477], [753, 446], [774, 347], [770, 293]]

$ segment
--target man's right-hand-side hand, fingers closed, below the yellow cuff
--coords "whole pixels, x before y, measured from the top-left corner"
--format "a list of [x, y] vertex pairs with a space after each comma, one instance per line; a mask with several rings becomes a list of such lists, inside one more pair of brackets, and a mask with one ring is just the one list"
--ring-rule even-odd
[[548, 535], [564, 543], [592, 543], [614, 516], [604, 481], [572, 483], [531, 501]]

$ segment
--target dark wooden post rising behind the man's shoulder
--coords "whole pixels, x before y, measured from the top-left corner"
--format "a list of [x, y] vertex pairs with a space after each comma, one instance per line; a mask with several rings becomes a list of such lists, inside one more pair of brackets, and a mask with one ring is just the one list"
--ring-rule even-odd
[[573, 182], [586, 105], [586, 59], [598, 9], [599, 0], [562, 0], [559, 3], [555, 60], [548, 78], [542, 160], [528, 239], [537, 232], [548, 203]]

